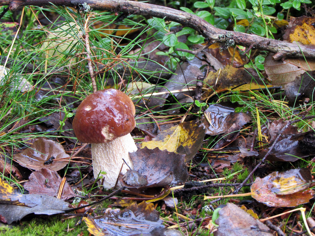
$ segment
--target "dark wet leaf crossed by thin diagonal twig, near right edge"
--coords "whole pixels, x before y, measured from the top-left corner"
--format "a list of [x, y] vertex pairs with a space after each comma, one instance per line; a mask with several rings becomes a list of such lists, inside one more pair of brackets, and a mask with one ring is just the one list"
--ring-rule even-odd
[[[278, 137], [279, 132], [289, 121], [279, 119], [273, 121], [269, 127], [270, 143]], [[272, 161], [296, 161], [300, 158], [311, 155], [301, 149], [301, 141], [306, 133], [299, 133], [297, 127], [289, 125], [283, 132], [270, 154], [267, 156], [268, 160]], [[262, 151], [259, 155], [260, 158], [264, 157], [267, 153]]]

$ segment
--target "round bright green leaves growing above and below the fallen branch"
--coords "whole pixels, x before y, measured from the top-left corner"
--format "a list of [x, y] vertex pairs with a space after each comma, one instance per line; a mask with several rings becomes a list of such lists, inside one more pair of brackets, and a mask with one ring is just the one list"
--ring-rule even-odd
[[[226, 29], [230, 22], [234, 22], [233, 30], [243, 33], [256, 34], [262, 37], [272, 37], [277, 33], [277, 29], [273, 26], [274, 17], [283, 20], [285, 11], [289, 14], [290, 8], [300, 10], [301, 3], [312, 3], [310, 0], [289, 0], [281, 3], [281, 0], [232, 0], [226, 7], [215, 6], [215, 0], [197, 1], [193, 4], [196, 11], [192, 11], [186, 7], [180, 7], [182, 11], [197, 15], [210, 24], [220, 29]], [[276, 14], [276, 8], [282, 10]], [[204, 9], [204, 10], [199, 10]], [[238, 24], [238, 20], [245, 20], [243, 24]], [[148, 24], [157, 30], [155, 37], [169, 47], [168, 52], [159, 52], [158, 54], [169, 55], [172, 58], [169, 65], [172, 69], [176, 67], [178, 59], [176, 57], [186, 57], [191, 60], [194, 55], [187, 52], [177, 51], [176, 48], [189, 49], [192, 44], [204, 42], [204, 37], [199, 35], [195, 30], [184, 27], [181, 31], [174, 34], [168, 34], [178, 23], [170, 22], [165, 24], [164, 20], [153, 18], [148, 20]], [[186, 35], [186, 42], [179, 42], [178, 37]], [[264, 58], [259, 57], [255, 60], [255, 65], [259, 70], [263, 70]]]

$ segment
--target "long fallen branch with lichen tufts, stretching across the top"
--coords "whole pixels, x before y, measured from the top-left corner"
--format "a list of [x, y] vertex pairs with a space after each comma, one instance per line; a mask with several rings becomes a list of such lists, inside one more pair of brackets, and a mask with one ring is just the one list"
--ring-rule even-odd
[[[257, 35], [221, 30], [196, 15], [148, 3], [125, 0], [0, 0], [0, 6], [8, 5], [11, 11], [14, 11], [20, 6], [45, 6], [51, 4], [79, 8], [85, 11], [90, 10], [88, 9], [90, 7], [95, 10], [165, 18], [165, 20], [175, 21], [195, 29], [211, 43], [220, 42], [226, 47], [242, 45], [266, 50], [275, 53], [273, 59], [276, 60], [288, 57], [315, 58], [314, 46], [297, 45], [296, 43], [267, 39]], [[88, 4], [89, 7], [87, 7], [86, 4]]]

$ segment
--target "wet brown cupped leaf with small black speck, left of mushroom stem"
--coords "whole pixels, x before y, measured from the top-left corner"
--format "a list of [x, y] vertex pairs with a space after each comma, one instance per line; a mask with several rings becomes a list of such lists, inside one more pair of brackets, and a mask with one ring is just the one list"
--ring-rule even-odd
[[60, 158], [69, 158], [63, 146], [45, 138], [39, 138], [31, 147], [13, 155], [13, 159], [19, 162], [21, 166], [37, 171], [42, 168], [53, 171], [61, 170], [68, 162], [54, 160]]

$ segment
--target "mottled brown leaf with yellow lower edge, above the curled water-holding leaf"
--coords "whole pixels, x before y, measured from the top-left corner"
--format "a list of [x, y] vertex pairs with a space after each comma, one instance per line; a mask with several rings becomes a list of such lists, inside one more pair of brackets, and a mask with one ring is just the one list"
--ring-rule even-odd
[[[217, 72], [209, 72], [204, 79], [204, 86], [213, 86], [215, 90], [234, 88], [233, 91], [265, 88], [266, 85], [259, 79], [258, 76], [251, 75], [243, 68], [234, 68], [232, 65], [227, 65], [223, 70]], [[270, 87], [270, 86], [267, 86]], [[203, 94], [203, 98], [207, 98], [212, 89], [209, 89]]]

